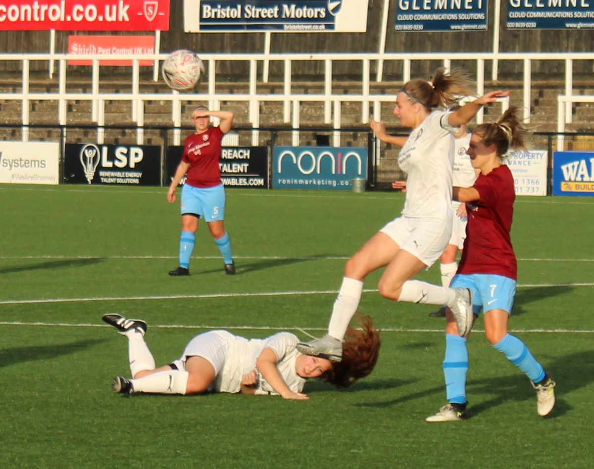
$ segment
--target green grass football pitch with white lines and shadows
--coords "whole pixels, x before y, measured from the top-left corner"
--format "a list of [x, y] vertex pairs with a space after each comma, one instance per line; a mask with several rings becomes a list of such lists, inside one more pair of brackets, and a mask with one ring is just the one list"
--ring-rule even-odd
[[[476, 325], [470, 419], [424, 421], [445, 404], [444, 322], [394, 303], [370, 275], [361, 312], [383, 329], [378, 365], [309, 401], [132, 395], [127, 343], [101, 321], [149, 323], [157, 366], [195, 334], [326, 328], [346, 259], [400, 213], [393, 193], [228, 191], [238, 275], [201, 226], [192, 275], [177, 265], [179, 205], [166, 189], [0, 186], [0, 451], [4, 467], [592, 467], [594, 200], [518, 198], [519, 288], [510, 330], [558, 385], [551, 416]], [[437, 265], [419, 276], [439, 282]]]

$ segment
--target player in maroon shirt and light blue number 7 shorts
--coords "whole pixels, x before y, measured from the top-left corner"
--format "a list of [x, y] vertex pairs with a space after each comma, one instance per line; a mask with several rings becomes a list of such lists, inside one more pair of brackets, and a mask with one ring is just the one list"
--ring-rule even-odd
[[[470, 318], [454, 317], [456, 312], [447, 309], [443, 370], [449, 403], [428, 417], [428, 422], [451, 422], [467, 415], [466, 337], [481, 310], [486, 339], [522, 370], [536, 389], [538, 414], [546, 416], [555, 404], [555, 382], [525, 344], [507, 332], [517, 278], [510, 238], [516, 194], [513, 175], [503, 158], [509, 148], [524, 148], [525, 134], [517, 107], [510, 107], [497, 122], [479, 125], [472, 133], [467, 153], [481, 173], [472, 187], [453, 190], [453, 198], [467, 204], [468, 224], [462, 260], [451, 287], [471, 290], [473, 307]], [[459, 337], [460, 321], [470, 321], [462, 326], [467, 331], [460, 334], [464, 337]]]

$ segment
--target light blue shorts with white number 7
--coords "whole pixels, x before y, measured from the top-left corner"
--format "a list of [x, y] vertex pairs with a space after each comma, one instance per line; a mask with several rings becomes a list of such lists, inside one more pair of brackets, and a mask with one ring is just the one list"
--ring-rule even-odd
[[516, 281], [503, 275], [456, 274], [450, 283], [451, 288], [472, 289], [472, 310], [478, 315], [491, 309], [503, 309], [511, 314], [516, 294]]

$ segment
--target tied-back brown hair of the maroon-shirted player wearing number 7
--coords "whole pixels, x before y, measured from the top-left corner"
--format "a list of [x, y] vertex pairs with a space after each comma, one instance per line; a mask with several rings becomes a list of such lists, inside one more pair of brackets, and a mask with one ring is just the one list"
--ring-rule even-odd
[[497, 156], [503, 157], [510, 148], [525, 150], [528, 132], [520, 119], [520, 109], [510, 106], [496, 122], [482, 123], [472, 133], [479, 135], [485, 145], [495, 145]]

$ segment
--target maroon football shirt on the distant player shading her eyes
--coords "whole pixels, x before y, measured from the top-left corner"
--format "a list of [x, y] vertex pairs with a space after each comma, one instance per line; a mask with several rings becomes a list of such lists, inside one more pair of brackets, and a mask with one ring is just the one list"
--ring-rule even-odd
[[223, 132], [211, 127], [201, 134], [192, 134], [184, 142], [182, 161], [189, 163], [186, 183], [198, 188], [213, 187], [221, 183], [219, 160]]

